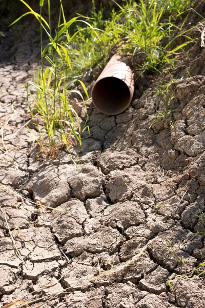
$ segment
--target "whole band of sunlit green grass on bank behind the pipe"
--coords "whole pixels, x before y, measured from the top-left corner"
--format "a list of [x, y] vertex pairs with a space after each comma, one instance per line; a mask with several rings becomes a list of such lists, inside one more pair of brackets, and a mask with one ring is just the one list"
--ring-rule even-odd
[[[193, 42], [187, 35], [189, 30], [183, 31], [187, 17], [180, 27], [175, 25], [176, 18], [184, 16], [191, 0], [125, 0], [122, 6], [112, 0], [118, 10], [112, 8], [107, 20], [103, 9], [96, 12], [94, 0], [92, 2], [90, 23], [100, 29], [100, 40], [93, 31], [78, 27], [80, 35], [70, 46], [76, 76], [82, 76], [97, 64], [104, 66], [113, 46], [119, 53], [143, 56], [145, 61], [137, 69], [150, 72], [166, 63], [174, 65], [177, 53]], [[174, 31], [177, 34], [173, 36]], [[179, 37], [184, 37], [185, 42], [174, 46]]]

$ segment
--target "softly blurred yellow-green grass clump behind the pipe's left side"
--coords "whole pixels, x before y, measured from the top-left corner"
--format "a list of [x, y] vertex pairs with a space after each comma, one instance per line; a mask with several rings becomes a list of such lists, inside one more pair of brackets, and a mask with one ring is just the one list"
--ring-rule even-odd
[[97, 11], [95, 2], [92, 0], [93, 8], [89, 23], [92, 28], [82, 27], [76, 24], [78, 35], [69, 45], [65, 41], [65, 47], [70, 51], [73, 70], [70, 75], [74, 78], [82, 78], [86, 73], [90, 73], [96, 65], [104, 67], [107, 57], [114, 45], [120, 42], [122, 36], [122, 27], [117, 25], [119, 14], [111, 8], [109, 19], [105, 20], [104, 9], [101, 6]]

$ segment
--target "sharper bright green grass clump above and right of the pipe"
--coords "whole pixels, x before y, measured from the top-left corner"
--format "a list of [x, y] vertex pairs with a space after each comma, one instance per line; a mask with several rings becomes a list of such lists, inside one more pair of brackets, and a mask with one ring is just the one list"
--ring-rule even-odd
[[[182, 3], [182, 2], [181, 2]], [[126, 1], [126, 6], [120, 8], [122, 16], [125, 16], [126, 47], [128, 53], [142, 53], [145, 62], [141, 66], [142, 71], [154, 71], [163, 64], [173, 64], [175, 55], [194, 40], [187, 35], [189, 30], [183, 31], [185, 20], [177, 27], [173, 23], [172, 14], [164, 18], [165, 7], [163, 2], [156, 3], [140, 0], [135, 3]], [[173, 13], [173, 12], [172, 12]], [[182, 13], [182, 12], [181, 12]], [[179, 12], [178, 15], [181, 14]], [[174, 18], [175, 21], [175, 18]], [[173, 31], [178, 34], [173, 37]], [[178, 37], [185, 37], [185, 42], [174, 46]]]

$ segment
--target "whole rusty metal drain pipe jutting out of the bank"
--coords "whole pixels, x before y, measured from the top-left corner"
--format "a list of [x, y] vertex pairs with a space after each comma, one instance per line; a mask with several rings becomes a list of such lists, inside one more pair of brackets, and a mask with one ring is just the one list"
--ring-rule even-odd
[[115, 115], [128, 108], [133, 93], [134, 78], [131, 68], [115, 54], [93, 86], [93, 103], [101, 112]]

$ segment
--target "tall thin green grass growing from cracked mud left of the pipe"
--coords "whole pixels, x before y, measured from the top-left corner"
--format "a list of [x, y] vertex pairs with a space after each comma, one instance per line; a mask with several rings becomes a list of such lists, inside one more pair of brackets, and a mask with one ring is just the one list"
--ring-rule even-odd
[[[59, 0], [58, 25], [56, 34], [52, 37], [50, 0], [48, 0], [48, 22], [42, 16], [44, 0], [40, 0], [39, 13], [35, 12], [25, 1], [20, 1], [29, 11], [17, 18], [11, 25], [28, 14], [34, 15], [40, 25], [41, 67], [37, 73], [35, 82], [27, 83], [27, 101], [32, 117], [34, 118], [38, 115], [43, 118], [45, 123], [43, 127], [38, 126], [39, 138], [36, 138], [36, 141], [46, 155], [50, 155], [51, 158], [54, 158], [59, 146], [65, 145], [69, 149], [69, 144], [71, 142], [76, 143], [77, 141], [81, 145], [80, 133], [83, 129], [81, 129], [80, 119], [69, 101], [69, 94], [75, 91], [79, 94], [82, 101], [84, 101], [84, 99], [79, 91], [73, 89], [73, 86], [79, 83], [88, 97], [83, 82], [80, 80], [68, 82], [68, 71], [72, 70], [68, 47], [73, 37], [78, 34], [78, 32], [75, 32], [71, 36], [69, 34], [69, 28], [73, 23], [78, 21], [84, 23], [86, 27], [92, 28], [92, 30], [93, 27], [79, 16], [67, 22], [62, 0]], [[43, 31], [46, 32], [50, 41], [45, 48], [43, 48]], [[68, 44], [67, 48], [60, 43], [65, 36]], [[59, 58], [64, 63], [63, 70], [58, 69]], [[44, 65], [44, 59], [47, 60], [49, 66]], [[35, 88], [35, 94], [32, 94], [29, 90], [30, 85]], [[31, 100], [34, 102], [34, 105], [30, 103]], [[85, 128], [87, 127], [85, 126], [84, 129]], [[46, 144], [46, 139], [48, 139], [49, 146]]]

